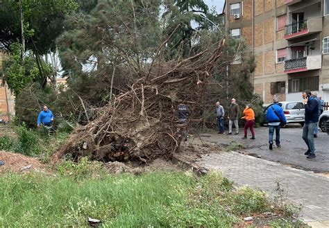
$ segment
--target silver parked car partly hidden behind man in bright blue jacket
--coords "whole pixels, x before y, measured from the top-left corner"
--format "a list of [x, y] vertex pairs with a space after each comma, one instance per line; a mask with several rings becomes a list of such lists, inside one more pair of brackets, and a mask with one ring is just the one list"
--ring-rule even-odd
[[[267, 124], [266, 113], [270, 105], [263, 105], [263, 123]], [[305, 107], [301, 101], [282, 101], [279, 105], [283, 109], [287, 123], [299, 123], [302, 126], [305, 123]]]

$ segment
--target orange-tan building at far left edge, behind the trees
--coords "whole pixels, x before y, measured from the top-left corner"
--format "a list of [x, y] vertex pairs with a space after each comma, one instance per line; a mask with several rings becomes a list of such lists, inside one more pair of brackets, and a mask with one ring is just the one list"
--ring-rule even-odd
[[[0, 69], [2, 67], [3, 50], [0, 46]], [[0, 119], [10, 121], [15, 115], [15, 97], [10, 93], [8, 85], [0, 77]]]

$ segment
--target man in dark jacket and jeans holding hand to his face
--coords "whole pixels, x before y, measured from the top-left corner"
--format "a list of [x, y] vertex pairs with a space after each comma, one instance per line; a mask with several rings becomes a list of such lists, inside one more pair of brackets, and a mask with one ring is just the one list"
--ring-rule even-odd
[[315, 100], [310, 91], [303, 91], [303, 103], [305, 105], [305, 123], [303, 127], [303, 139], [307, 145], [307, 155], [308, 159], [312, 159], [315, 156], [314, 147], [314, 127], [319, 121], [319, 104]]

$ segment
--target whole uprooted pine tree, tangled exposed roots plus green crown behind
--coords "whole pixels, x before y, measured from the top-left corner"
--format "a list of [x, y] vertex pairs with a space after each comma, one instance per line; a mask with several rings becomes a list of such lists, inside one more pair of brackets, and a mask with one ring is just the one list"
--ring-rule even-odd
[[[226, 67], [238, 51], [242, 58], [248, 54], [239, 42], [212, 29], [194, 31], [186, 50], [185, 38], [177, 40], [175, 36], [185, 21], [175, 21], [172, 28], [171, 17], [159, 19], [162, 4], [106, 1], [87, 17], [71, 17], [72, 29], [60, 39], [63, 65], [71, 71], [70, 83], [96, 78], [98, 83], [87, 88], [104, 88], [102, 79], [108, 78], [110, 90], [101, 92], [112, 91], [115, 96], [110, 92], [108, 104], [97, 108], [87, 125], [72, 134], [58, 157], [142, 162], [159, 156], [169, 159], [179, 149], [185, 128], [203, 121], [205, 103], [215, 91], [226, 90], [228, 78], [218, 78], [226, 75]], [[179, 45], [168, 45], [173, 40]], [[176, 46], [174, 55], [170, 46]], [[87, 88], [81, 87], [81, 91], [92, 91]], [[176, 107], [180, 103], [190, 110], [187, 125], [178, 121]]]

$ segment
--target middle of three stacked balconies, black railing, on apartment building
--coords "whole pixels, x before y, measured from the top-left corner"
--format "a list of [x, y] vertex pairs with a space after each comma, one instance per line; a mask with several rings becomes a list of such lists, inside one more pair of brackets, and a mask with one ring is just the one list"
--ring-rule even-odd
[[322, 17], [310, 17], [285, 26], [285, 39], [292, 40], [296, 37], [320, 33], [322, 30]]

